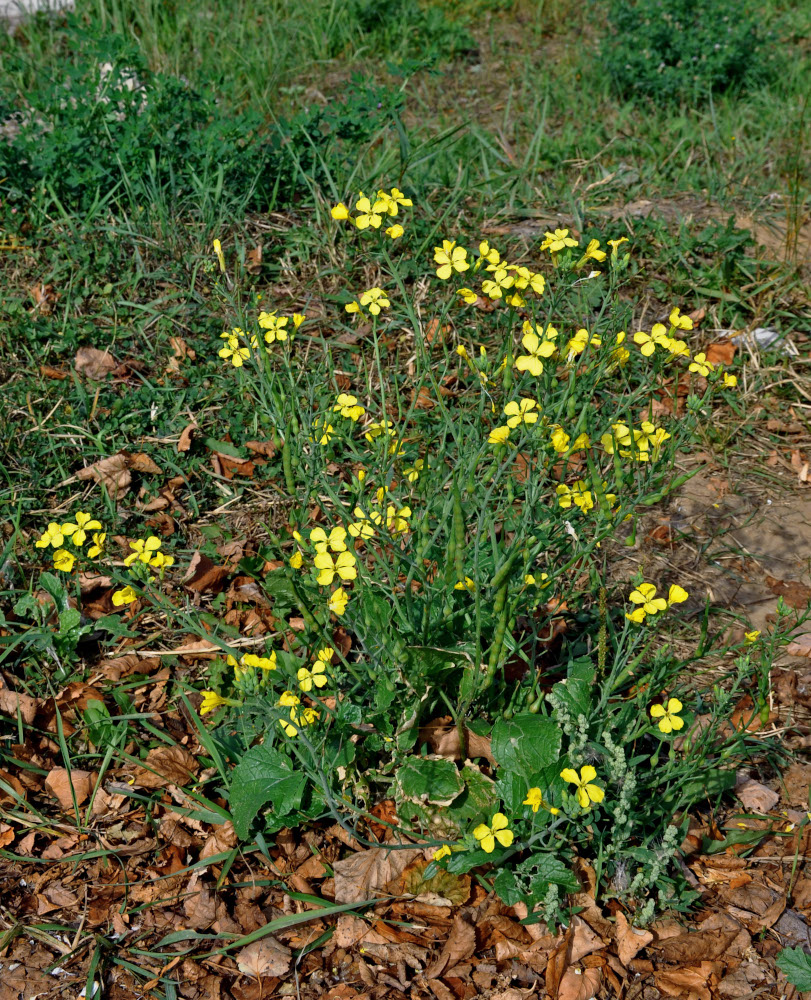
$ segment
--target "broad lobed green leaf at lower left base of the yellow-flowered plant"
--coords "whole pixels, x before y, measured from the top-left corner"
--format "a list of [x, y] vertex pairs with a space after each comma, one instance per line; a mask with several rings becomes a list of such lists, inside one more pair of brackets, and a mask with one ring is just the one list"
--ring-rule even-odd
[[294, 772], [290, 760], [278, 750], [265, 745], [250, 749], [234, 768], [229, 790], [237, 836], [247, 838], [254, 817], [268, 802], [276, 817], [295, 812], [306, 783], [306, 775]]

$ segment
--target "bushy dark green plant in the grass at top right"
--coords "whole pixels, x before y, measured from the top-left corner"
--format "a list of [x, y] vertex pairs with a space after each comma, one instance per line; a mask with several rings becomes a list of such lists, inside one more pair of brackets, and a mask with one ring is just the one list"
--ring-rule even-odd
[[767, 45], [748, 0], [611, 0], [601, 55], [625, 94], [696, 101], [765, 75]]

